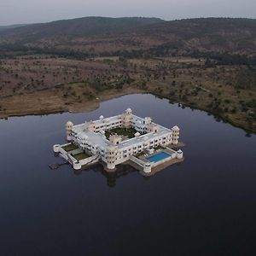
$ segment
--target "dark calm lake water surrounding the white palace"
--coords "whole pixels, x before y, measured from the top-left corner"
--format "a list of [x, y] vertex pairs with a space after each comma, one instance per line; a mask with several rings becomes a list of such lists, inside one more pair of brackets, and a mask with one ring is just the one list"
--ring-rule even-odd
[[[68, 119], [131, 107], [179, 125], [185, 161], [144, 178], [95, 166], [49, 170]], [[0, 120], [0, 255], [253, 255], [256, 136], [151, 95], [103, 102], [91, 113]]]

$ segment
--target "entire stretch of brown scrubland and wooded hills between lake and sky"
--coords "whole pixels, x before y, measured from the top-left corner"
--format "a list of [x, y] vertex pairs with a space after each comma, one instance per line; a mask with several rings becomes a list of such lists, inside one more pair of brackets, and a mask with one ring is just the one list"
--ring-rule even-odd
[[256, 20], [88, 17], [0, 31], [0, 118], [137, 92], [256, 132]]

